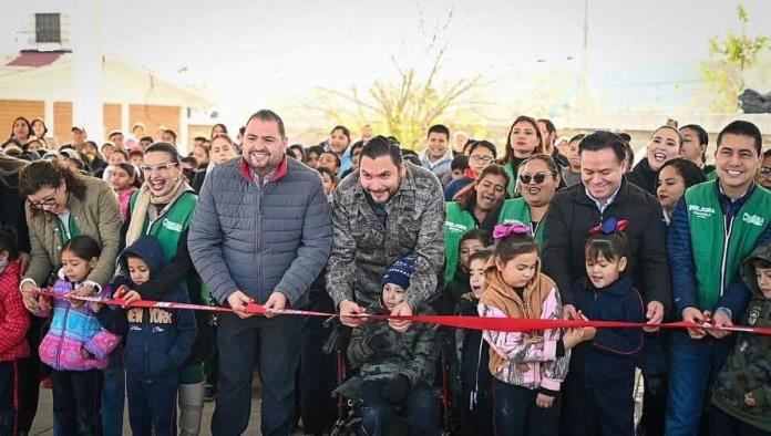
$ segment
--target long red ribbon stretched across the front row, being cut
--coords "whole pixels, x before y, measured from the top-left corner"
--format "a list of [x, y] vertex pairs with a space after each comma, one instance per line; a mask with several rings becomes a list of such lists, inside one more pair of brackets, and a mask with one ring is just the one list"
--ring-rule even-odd
[[[39, 291], [37, 292], [41, 295], [69, 299], [60, 294], [55, 294], [51, 291]], [[91, 301], [95, 303], [109, 304], [109, 305], [120, 305], [123, 308], [163, 308], [163, 309], [188, 309], [188, 310], [205, 310], [213, 312], [233, 312], [230, 308], [222, 308], [215, 305], [202, 305], [202, 304], [189, 304], [189, 303], [171, 303], [163, 301], [150, 301], [150, 300], [138, 300], [131, 304], [126, 304], [125, 301], [121, 299], [102, 299], [97, 297], [72, 297], [75, 300]], [[249, 303], [245, 310], [246, 313], [254, 313], [265, 315], [267, 313], [271, 314], [282, 314], [282, 315], [295, 315], [295, 316], [323, 316], [323, 318], [338, 318], [337, 313], [327, 312], [315, 312], [308, 310], [296, 310], [296, 309], [269, 309], [261, 304]], [[595, 329], [641, 329], [658, 326], [661, 329], [716, 329], [726, 330], [730, 332], [746, 332], [762, 335], [771, 335], [771, 328], [751, 328], [746, 325], [730, 325], [722, 328], [715, 328], [708, 323], [696, 324], [692, 322], [670, 322], [659, 325], [646, 324], [642, 322], [623, 322], [623, 321], [585, 321], [585, 320], [532, 320], [532, 319], [521, 319], [521, 318], [481, 318], [481, 316], [455, 316], [455, 315], [373, 315], [373, 314], [353, 314], [347, 315], [350, 318], [366, 318], [370, 320], [388, 321], [412, 321], [426, 324], [435, 324], [443, 326], [451, 326], [458, 329], [470, 329], [470, 330], [491, 330], [498, 332], [531, 332], [539, 330], [549, 329], [580, 329], [580, 328], [595, 328]]]

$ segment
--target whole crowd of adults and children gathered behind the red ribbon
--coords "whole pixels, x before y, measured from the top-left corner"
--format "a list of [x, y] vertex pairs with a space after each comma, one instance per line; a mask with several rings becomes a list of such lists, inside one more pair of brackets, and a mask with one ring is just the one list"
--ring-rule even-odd
[[[771, 328], [771, 149], [752, 123], [722, 128], [713, 165], [707, 132], [674, 121], [638, 162], [629, 135], [524, 115], [502, 153], [440, 124], [421, 154], [369, 125], [290, 145], [268, 110], [187, 156], [141, 123], [101, 144], [47, 134], [19, 117], [0, 153], [0, 435], [29, 434], [41, 386], [55, 435], [120, 435], [126, 405], [137, 435], [239, 435], [255, 368], [263, 434], [328, 434], [330, 334], [370, 435], [397, 415], [425, 435], [771, 434], [771, 339], [726, 329]], [[646, 326], [400, 318], [435, 313]]]

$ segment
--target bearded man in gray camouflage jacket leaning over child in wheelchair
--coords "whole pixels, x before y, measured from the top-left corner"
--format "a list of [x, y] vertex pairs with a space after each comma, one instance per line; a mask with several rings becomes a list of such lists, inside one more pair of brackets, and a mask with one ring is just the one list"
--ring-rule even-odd
[[[402, 256], [414, 255], [415, 271], [405, 302], [392, 314], [411, 315], [435, 297], [444, 264], [442, 185], [428, 169], [404, 163], [398, 144], [377, 136], [363, 146], [359, 172], [338, 186], [331, 214], [327, 292], [346, 325], [361, 324], [345, 315], [378, 303], [380, 279]], [[410, 322], [390, 325], [405, 331]]]

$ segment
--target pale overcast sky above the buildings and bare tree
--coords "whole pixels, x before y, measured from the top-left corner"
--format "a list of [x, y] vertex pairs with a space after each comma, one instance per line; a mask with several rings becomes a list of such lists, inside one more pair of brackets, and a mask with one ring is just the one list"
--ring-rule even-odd
[[[80, 2], [28, 0], [4, 8], [0, 52], [27, 46], [22, 32], [31, 30], [34, 12], [73, 14]], [[771, 2], [742, 3], [750, 32], [771, 34]], [[593, 80], [624, 85], [648, 80], [635, 71], [660, 71], [662, 82], [676, 81], [672, 65], [707, 58], [711, 35], [738, 28], [737, 4], [590, 0]], [[432, 29], [450, 9], [454, 18], [445, 33], [445, 77], [484, 73], [496, 79], [531, 65], [536, 73], [546, 71], [543, 65], [579, 65], [583, 0], [105, 0], [102, 49], [164, 76], [205, 86], [225, 116], [237, 123], [257, 107], [291, 104], [316, 86], [393, 77], [390, 56], [405, 65], [419, 63]], [[616, 71], [626, 73], [615, 77]]]

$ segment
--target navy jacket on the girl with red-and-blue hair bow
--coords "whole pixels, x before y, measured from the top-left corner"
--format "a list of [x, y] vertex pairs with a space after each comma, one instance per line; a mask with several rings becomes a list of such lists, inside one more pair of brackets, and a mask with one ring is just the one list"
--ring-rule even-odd
[[[629, 276], [603, 289], [580, 279], [573, 297], [576, 309], [592, 321], [645, 322], [642, 299]], [[573, 350], [568, 376], [588, 387], [628, 381], [635, 376], [635, 356], [641, 349], [641, 329], [597, 329], [593, 341]]]

